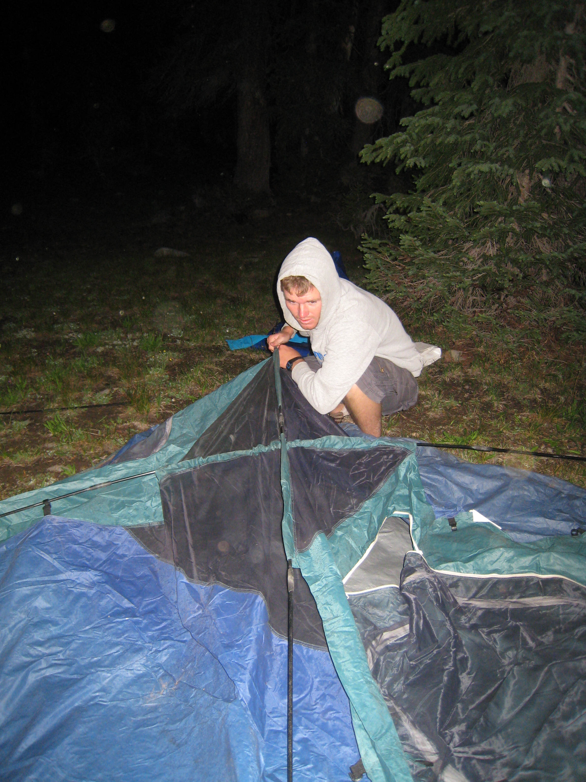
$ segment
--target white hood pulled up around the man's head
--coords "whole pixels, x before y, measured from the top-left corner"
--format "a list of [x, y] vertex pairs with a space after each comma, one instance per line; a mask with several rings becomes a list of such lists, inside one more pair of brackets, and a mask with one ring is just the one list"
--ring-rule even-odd
[[305, 329], [289, 312], [283, 291], [280, 289], [280, 281], [284, 277], [294, 276], [307, 278], [320, 292], [321, 314], [316, 329], [323, 328], [338, 309], [341, 299], [341, 285], [332, 256], [317, 239], [310, 236], [309, 239], [303, 239], [302, 242], [299, 242], [283, 261], [277, 277], [277, 296], [279, 296], [285, 321], [296, 331], [303, 332]]

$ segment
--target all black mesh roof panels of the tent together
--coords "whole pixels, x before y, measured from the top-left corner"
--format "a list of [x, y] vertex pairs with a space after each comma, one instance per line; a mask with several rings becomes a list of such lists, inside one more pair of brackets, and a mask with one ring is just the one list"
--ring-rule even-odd
[[[327, 415], [317, 413], [286, 371], [280, 371], [286, 436], [291, 439], [346, 438]], [[184, 457], [209, 457], [270, 446], [207, 462], [167, 475], [160, 483], [164, 525], [134, 528], [134, 536], [188, 579], [221, 583], [261, 594], [276, 633], [287, 634], [287, 559], [281, 522], [278, 404], [273, 362], [248, 386]], [[330, 535], [380, 488], [406, 450], [288, 450], [295, 534], [309, 546], [316, 534]], [[300, 547], [302, 547], [300, 545]], [[325, 647], [313, 595], [295, 571], [295, 640]]]

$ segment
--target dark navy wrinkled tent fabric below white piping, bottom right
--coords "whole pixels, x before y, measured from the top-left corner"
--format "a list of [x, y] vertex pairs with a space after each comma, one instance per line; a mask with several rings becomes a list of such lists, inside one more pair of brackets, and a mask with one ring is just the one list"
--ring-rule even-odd
[[578, 780], [586, 771], [586, 589], [442, 576], [351, 595], [416, 780]]

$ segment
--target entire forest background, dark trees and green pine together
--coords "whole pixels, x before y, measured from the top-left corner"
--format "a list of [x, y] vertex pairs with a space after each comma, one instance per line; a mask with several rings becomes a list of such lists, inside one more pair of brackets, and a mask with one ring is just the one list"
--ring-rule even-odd
[[2, 230], [68, 188], [175, 188], [208, 228], [297, 198], [402, 316], [584, 339], [581, 0], [23, 2], [4, 30]]

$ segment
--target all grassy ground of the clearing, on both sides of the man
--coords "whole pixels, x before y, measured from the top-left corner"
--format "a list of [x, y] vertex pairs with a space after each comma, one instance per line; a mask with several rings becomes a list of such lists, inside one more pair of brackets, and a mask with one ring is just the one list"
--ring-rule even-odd
[[[231, 353], [225, 340], [274, 325], [274, 274], [307, 235], [340, 249], [354, 282], [365, 277], [358, 240], [312, 203], [277, 203], [269, 221], [242, 225], [196, 214], [186, 198], [177, 220], [163, 226], [145, 220], [154, 207], [138, 196], [124, 200], [126, 211], [114, 212], [106, 198], [88, 203], [93, 211], [82, 209], [83, 199], [46, 203], [34, 225], [7, 234], [0, 410], [120, 407], [0, 416], [2, 498], [99, 464], [136, 432], [262, 361], [259, 351]], [[155, 258], [159, 246], [190, 257]], [[386, 434], [584, 454], [583, 346], [566, 344], [561, 334], [484, 321], [406, 328], [449, 358], [459, 351], [460, 360], [424, 370], [418, 404], [384, 419]], [[586, 486], [580, 463], [456, 454]]]

